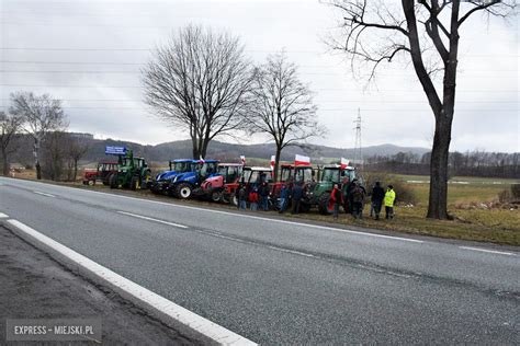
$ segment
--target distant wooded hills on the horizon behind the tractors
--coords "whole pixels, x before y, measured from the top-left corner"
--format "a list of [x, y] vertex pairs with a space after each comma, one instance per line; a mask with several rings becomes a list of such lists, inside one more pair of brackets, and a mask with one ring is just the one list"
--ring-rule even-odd
[[[77, 135], [81, 135], [81, 138], [89, 146], [89, 151], [81, 160], [83, 162], [97, 162], [100, 160], [106, 160], [106, 155], [104, 154], [104, 149], [106, 146], [125, 146], [127, 148], [133, 149], [136, 155], [144, 157], [150, 162], [163, 163], [171, 159], [192, 157], [191, 140], [171, 141], [156, 146], [143, 146], [140, 143], [131, 141], [121, 141], [114, 139], [93, 139], [92, 136], [84, 136], [84, 134]], [[32, 147], [29, 138], [26, 139], [26, 145], [24, 145], [23, 147], [23, 150], [19, 152], [19, 154], [23, 157], [21, 159], [24, 159], [22, 162], [31, 162]], [[206, 158], [235, 162], [240, 155], [246, 155], [246, 158], [259, 158], [269, 160], [271, 155], [274, 154], [274, 143], [235, 145], [214, 140], [210, 143]], [[398, 152], [411, 152], [415, 154], [422, 155], [428, 151], [429, 149], [427, 148], [398, 147], [394, 145], [372, 146], [362, 149], [362, 153], [365, 157], [371, 157], [374, 154], [393, 155]], [[332, 148], [314, 145], [306, 145], [304, 148], [287, 147], [282, 152], [282, 160], [292, 161], [294, 160], [295, 154], [308, 155], [312, 158], [313, 162], [316, 163], [328, 163], [330, 160], [338, 160], [340, 158], [352, 159], [354, 157], [354, 149]]]

